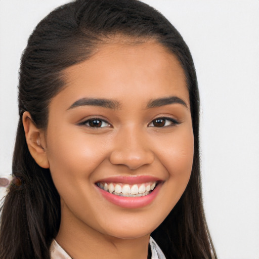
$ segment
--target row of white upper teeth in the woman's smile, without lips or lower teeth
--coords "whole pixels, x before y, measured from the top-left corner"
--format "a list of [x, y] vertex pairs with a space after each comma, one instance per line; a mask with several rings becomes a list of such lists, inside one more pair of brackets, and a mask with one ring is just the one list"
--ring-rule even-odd
[[98, 186], [110, 193], [139, 194], [154, 190], [156, 182], [144, 184], [120, 184], [120, 183], [98, 183]]

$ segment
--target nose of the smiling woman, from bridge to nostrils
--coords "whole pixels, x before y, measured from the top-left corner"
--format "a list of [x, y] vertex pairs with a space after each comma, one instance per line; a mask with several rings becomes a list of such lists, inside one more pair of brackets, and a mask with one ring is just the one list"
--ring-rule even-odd
[[135, 170], [154, 161], [154, 153], [145, 134], [133, 128], [119, 131], [114, 139], [114, 148], [110, 154], [110, 162], [125, 165]]

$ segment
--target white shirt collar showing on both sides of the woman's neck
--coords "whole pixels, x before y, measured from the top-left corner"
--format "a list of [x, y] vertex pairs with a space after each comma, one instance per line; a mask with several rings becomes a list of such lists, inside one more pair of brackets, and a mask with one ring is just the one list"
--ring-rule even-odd
[[[160, 249], [160, 247], [152, 237], [149, 238], [149, 244], [152, 252], [151, 259], [166, 259], [162, 250]], [[66, 251], [57, 243], [55, 239], [51, 244], [50, 252], [51, 252], [51, 259], [72, 259], [66, 253]]]

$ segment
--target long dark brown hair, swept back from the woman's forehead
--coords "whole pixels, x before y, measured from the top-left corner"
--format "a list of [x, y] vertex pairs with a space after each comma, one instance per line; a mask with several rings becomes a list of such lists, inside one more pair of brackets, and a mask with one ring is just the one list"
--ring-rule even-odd
[[2, 207], [0, 257], [50, 258], [60, 225], [60, 197], [50, 170], [31, 157], [22, 115], [39, 128], [48, 125], [48, 106], [64, 85], [62, 71], [90, 58], [99, 44], [120, 36], [132, 42], [159, 42], [180, 61], [190, 96], [194, 160], [188, 186], [164, 222], [151, 234], [167, 259], [217, 257], [207, 229], [199, 164], [199, 93], [190, 51], [166, 18], [136, 0], [77, 0], [51, 12], [28, 39], [20, 66], [19, 115], [13, 175], [22, 188], [10, 187]]

